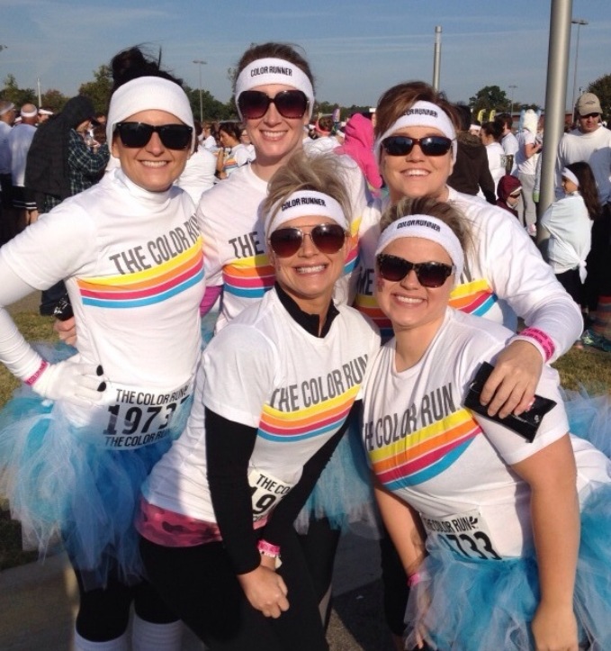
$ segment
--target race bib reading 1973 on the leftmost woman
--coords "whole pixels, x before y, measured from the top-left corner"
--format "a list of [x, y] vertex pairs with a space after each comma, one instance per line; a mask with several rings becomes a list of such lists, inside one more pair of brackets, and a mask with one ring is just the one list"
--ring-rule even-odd
[[172, 425], [185, 419], [193, 382], [163, 392], [140, 391], [112, 383], [106, 391], [110, 400], [103, 429], [105, 447], [133, 449], [165, 439]]

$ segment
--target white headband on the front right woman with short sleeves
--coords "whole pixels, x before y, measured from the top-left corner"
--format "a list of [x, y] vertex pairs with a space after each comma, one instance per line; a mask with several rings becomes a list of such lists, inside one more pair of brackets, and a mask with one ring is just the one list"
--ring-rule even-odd
[[464, 267], [463, 247], [454, 235], [454, 231], [445, 222], [425, 214], [401, 217], [382, 231], [377, 249], [375, 249], [375, 255], [382, 253], [392, 241], [400, 238], [422, 238], [423, 240], [436, 242], [443, 247], [452, 259], [454, 267], [456, 267], [454, 285], [458, 283]]

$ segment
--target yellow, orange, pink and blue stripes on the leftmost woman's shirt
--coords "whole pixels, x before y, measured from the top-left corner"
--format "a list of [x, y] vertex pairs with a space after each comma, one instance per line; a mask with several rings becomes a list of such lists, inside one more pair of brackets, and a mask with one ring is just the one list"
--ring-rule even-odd
[[175, 258], [133, 274], [76, 280], [84, 305], [111, 309], [144, 307], [181, 294], [203, 279], [202, 238]]

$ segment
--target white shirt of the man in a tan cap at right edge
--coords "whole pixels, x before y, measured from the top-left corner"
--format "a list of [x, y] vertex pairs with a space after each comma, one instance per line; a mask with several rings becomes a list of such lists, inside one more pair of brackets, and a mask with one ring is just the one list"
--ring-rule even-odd
[[602, 205], [611, 201], [611, 131], [602, 125], [596, 131], [565, 133], [558, 145], [556, 158], [556, 196], [562, 192], [562, 169], [571, 163], [584, 161], [592, 168]]

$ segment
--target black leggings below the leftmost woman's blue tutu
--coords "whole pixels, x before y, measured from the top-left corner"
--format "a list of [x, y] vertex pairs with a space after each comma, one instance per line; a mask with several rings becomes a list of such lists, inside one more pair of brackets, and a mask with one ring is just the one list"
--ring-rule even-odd
[[136, 614], [145, 621], [169, 624], [178, 619], [146, 581], [126, 585], [110, 575], [105, 588], [85, 590], [83, 574], [78, 570], [75, 574], [80, 594], [76, 631], [85, 639], [106, 642], [121, 637], [128, 627], [132, 601]]

